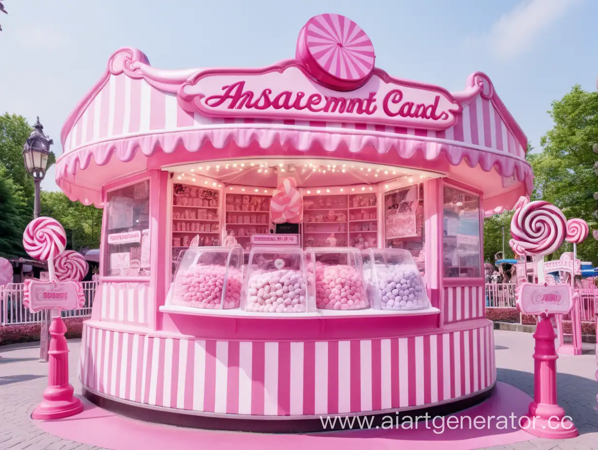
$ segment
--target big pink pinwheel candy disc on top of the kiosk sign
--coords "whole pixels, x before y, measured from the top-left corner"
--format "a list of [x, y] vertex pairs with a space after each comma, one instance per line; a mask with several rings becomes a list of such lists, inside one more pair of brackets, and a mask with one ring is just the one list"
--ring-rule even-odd
[[320, 14], [301, 29], [297, 59], [323, 85], [348, 91], [367, 81], [376, 55], [370, 38], [355, 22], [338, 14]]

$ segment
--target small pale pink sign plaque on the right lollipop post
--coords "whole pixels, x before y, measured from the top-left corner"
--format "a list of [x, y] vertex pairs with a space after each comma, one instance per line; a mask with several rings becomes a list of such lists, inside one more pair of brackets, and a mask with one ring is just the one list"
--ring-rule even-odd
[[517, 308], [524, 314], [567, 314], [572, 306], [568, 284], [521, 283], [517, 288]]

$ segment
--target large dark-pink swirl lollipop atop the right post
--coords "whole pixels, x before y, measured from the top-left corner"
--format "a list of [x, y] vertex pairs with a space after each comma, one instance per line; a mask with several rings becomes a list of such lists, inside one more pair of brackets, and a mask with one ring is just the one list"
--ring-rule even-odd
[[526, 201], [517, 203], [519, 207], [511, 219], [512, 246], [531, 255], [549, 255], [565, 240], [565, 215], [547, 201]]

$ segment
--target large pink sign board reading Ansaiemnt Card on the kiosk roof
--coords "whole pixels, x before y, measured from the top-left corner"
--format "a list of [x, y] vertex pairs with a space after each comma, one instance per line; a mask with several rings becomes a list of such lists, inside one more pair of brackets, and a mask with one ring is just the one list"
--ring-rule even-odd
[[179, 103], [214, 117], [298, 119], [444, 130], [462, 111], [443, 88], [374, 74], [360, 88], [338, 92], [316, 84], [288, 62], [261, 71], [205, 71], [184, 82]]

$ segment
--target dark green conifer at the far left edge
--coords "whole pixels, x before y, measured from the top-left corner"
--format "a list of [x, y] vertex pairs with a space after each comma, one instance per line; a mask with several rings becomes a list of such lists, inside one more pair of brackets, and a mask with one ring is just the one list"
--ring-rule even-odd
[[0, 256], [24, 256], [23, 230], [29, 208], [21, 186], [0, 166]]

